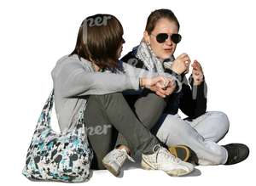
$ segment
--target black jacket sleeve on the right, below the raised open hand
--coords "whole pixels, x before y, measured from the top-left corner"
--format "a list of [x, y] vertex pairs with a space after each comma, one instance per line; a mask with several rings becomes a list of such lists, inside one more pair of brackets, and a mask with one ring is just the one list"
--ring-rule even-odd
[[207, 110], [207, 83], [204, 81], [199, 86], [193, 85], [193, 78], [190, 76], [190, 86], [186, 76], [183, 78], [179, 108], [191, 119], [206, 113]]

